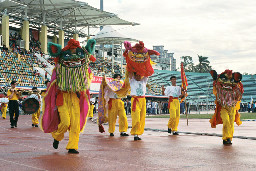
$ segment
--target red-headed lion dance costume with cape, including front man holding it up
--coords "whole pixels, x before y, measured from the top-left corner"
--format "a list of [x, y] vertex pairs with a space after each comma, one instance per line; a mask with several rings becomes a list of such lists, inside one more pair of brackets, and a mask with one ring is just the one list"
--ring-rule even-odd
[[[118, 87], [114, 92], [119, 98], [131, 95], [132, 104], [132, 130], [134, 140], [140, 140], [138, 135], [143, 134], [146, 117], [146, 82], [147, 77], [154, 73], [150, 55], [160, 55], [157, 51], [149, 50], [144, 47], [144, 43], [140, 41], [135, 46], [131, 46], [130, 42], [125, 41], [125, 52], [123, 56], [126, 59], [126, 75], [122, 87]], [[139, 76], [140, 80], [135, 80], [134, 73]], [[102, 86], [104, 85], [104, 82]], [[104, 87], [102, 87], [104, 88]], [[101, 93], [102, 93], [101, 89]], [[113, 90], [113, 89], [112, 89]], [[104, 129], [102, 123], [107, 121], [106, 109], [104, 107], [104, 92], [99, 95], [99, 128], [100, 132]]]

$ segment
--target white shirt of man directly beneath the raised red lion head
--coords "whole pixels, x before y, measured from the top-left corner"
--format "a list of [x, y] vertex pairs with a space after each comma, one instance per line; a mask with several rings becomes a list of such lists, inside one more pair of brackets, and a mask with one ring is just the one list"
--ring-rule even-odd
[[146, 94], [146, 85], [148, 77], [143, 77], [140, 81], [137, 81], [132, 77], [129, 78], [131, 86], [131, 96], [145, 96]]

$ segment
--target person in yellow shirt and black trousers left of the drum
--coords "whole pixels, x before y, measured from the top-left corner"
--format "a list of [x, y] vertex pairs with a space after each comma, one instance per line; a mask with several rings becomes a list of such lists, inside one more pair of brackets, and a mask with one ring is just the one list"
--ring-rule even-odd
[[[9, 114], [10, 114], [10, 122], [11, 128], [17, 127], [17, 122], [19, 118], [19, 103], [18, 99], [20, 97], [16, 87], [16, 81], [11, 82], [11, 89], [7, 92], [7, 97], [9, 100], [8, 107], [9, 107]], [[14, 118], [15, 113], [15, 118]]]

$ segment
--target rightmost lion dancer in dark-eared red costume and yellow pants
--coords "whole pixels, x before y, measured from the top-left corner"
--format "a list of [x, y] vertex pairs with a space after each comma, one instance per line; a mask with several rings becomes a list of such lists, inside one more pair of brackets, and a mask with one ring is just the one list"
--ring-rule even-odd
[[217, 72], [212, 70], [213, 78], [213, 94], [216, 96], [215, 113], [210, 120], [211, 127], [216, 128], [217, 124], [223, 124], [223, 144], [231, 145], [234, 134], [234, 122], [239, 126], [240, 121], [240, 102], [244, 92], [243, 84], [241, 83], [242, 75], [239, 72], [225, 70], [217, 75]]

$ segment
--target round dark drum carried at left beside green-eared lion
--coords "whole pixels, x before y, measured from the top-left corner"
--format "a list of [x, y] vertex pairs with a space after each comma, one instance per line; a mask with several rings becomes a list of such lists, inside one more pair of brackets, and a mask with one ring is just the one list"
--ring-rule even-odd
[[22, 102], [22, 110], [26, 114], [34, 114], [38, 111], [40, 105], [35, 98], [27, 98]]

